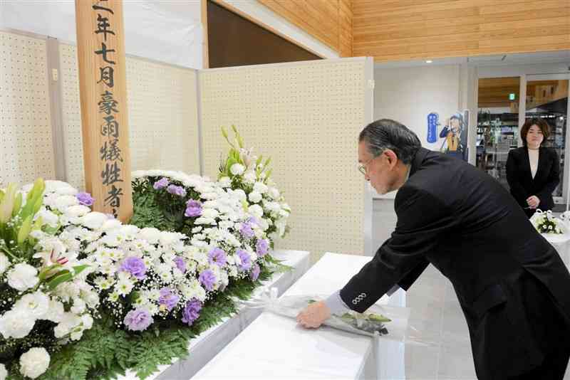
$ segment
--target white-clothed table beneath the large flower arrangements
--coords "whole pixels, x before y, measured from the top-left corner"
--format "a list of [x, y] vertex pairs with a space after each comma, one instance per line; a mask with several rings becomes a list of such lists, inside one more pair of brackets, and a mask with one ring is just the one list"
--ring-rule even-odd
[[[284, 265], [293, 268], [286, 273], [276, 273], [273, 278], [266, 280], [262, 289], [276, 287], [279, 295], [285, 292], [292, 284], [296, 283], [311, 266], [309, 252], [304, 250], [276, 250], [273, 257], [283, 260]], [[253, 320], [261, 314], [261, 310], [246, 309], [231, 318], [225, 318], [223, 322], [199, 334], [190, 341], [189, 356], [179, 359], [171, 365], [160, 366], [159, 371], [147, 379], [178, 380], [190, 379], [199, 371], [204, 364], [211, 360], [223, 347], [242, 332]], [[138, 379], [136, 374], [128, 371], [120, 380]]]

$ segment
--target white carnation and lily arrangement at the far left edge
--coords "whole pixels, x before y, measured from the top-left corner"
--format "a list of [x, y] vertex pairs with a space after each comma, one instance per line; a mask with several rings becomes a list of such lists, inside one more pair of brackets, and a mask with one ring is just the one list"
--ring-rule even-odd
[[[45, 187], [38, 180], [24, 192], [14, 184], [0, 191], [0, 359], [15, 376], [31, 379], [46, 371], [50, 354], [92, 327], [99, 304], [78, 247], [56, 234], [58, 216], [43, 205]], [[6, 375], [1, 364], [0, 378]]]

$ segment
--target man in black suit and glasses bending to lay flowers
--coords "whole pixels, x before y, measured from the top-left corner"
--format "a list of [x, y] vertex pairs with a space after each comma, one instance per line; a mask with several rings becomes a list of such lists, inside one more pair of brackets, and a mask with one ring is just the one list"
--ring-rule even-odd
[[492, 177], [430, 152], [405, 126], [378, 120], [358, 161], [379, 194], [399, 189], [398, 223], [343, 289], [299, 313], [318, 327], [331, 312], [364, 312], [394, 285], [408, 290], [432, 263], [450, 279], [480, 379], [562, 379], [570, 356], [570, 274]]

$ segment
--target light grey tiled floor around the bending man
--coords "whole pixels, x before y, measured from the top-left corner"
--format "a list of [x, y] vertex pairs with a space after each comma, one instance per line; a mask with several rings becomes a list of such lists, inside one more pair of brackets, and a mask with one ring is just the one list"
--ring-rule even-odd
[[[374, 246], [380, 247], [395, 227], [392, 201], [375, 201], [373, 213]], [[406, 293], [406, 306], [412, 309], [410, 324], [430, 347], [405, 347], [406, 379], [475, 380], [467, 322], [449, 280], [432, 265]], [[570, 379], [566, 371], [564, 379]]]

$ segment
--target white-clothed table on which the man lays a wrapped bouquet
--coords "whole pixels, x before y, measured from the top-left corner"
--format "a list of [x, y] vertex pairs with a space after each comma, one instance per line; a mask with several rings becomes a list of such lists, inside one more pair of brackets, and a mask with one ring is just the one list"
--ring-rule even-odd
[[[345, 285], [371, 257], [326, 253], [284, 296], [327, 295]], [[403, 290], [380, 304], [402, 306]], [[374, 344], [374, 342], [377, 342]], [[375, 359], [375, 358], [378, 358]], [[263, 312], [192, 379], [402, 379], [403, 343], [329, 327], [304, 329]]]

